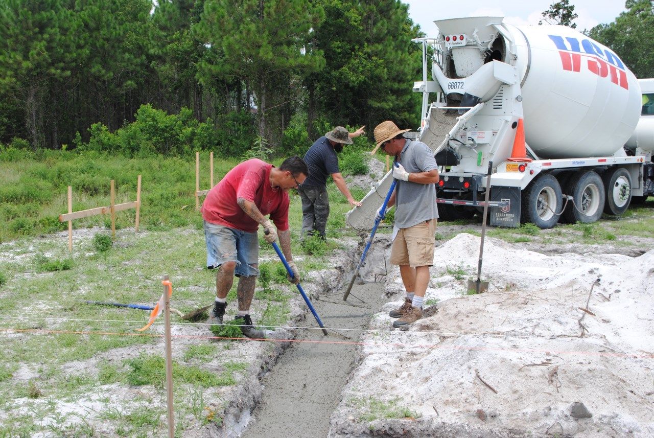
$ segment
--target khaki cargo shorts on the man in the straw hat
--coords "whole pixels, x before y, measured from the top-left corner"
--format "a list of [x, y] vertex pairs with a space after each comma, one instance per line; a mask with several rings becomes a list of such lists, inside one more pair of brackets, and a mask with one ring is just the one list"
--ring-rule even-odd
[[401, 228], [390, 249], [390, 263], [411, 267], [434, 265], [435, 233], [436, 219]]

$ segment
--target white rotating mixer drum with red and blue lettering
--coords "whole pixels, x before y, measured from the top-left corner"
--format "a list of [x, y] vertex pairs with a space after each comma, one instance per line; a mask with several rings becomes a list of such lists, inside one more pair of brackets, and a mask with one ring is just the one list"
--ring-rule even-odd
[[518, 49], [530, 148], [540, 158], [611, 156], [620, 150], [641, 109], [640, 86], [621, 59], [569, 27], [506, 27]]

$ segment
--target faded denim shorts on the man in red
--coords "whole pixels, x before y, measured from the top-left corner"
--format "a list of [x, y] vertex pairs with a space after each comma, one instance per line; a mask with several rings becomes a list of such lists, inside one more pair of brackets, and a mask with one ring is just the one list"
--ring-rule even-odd
[[236, 277], [259, 275], [259, 238], [256, 233], [204, 221], [207, 242], [207, 267], [214, 269], [226, 261], [235, 261]]

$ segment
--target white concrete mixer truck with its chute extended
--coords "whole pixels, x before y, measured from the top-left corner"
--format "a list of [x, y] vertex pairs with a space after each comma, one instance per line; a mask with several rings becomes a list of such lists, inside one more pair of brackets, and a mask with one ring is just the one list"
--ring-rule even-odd
[[[514, 26], [501, 17], [436, 25], [436, 39], [414, 40], [423, 69], [413, 90], [422, 93], [416, 136], [443, 166], [441, 218], [480, 210], [489, 167], [494, 226], [590, 223], [654, 194], [654, 131], [627, 143], [643, 99], [610, 49], [560, 25]], [[360, 227], [374, 216], [387, 186], [390, 174], [347, 222]]]

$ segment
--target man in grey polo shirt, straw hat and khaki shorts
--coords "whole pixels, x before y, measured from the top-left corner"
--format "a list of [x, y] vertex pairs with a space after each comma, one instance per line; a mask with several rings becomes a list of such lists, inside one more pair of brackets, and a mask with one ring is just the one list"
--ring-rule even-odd
[[[406, 290], [404, 304], [390, 311], [393, 327], [411, 324], [422, 318], [422, 301], [429, 282], [429, 267], [434, 264], [434, 233], [438, 220], [436, 186], [438, 165], [434, 153], [419, 141], [402, 137], [409, 129], [399, 129], [390, 121], [375, 127], [377, 148], [395, 157], [393, 177], [398, 180], [388, 207], [395, 205], [397, 235], [390, 250], [390, 263], [400, 266]], [[374, 152], [374, 151], [373, 151]], [[377, 211], [377, 216], [386, 212]]]

